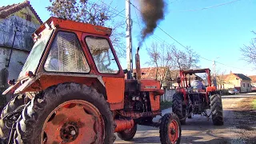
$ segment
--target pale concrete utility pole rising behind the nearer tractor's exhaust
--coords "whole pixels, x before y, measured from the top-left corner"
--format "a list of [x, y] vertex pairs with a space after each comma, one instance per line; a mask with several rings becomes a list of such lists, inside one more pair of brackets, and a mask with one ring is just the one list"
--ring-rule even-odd
[[130, 20], [130, 0], [126, 0], [126, 62], [127, 62], [127, 79], [131, 79], [133, 72], [133, 54], [131, 43], [131, 20]]

